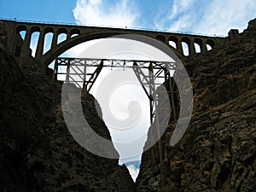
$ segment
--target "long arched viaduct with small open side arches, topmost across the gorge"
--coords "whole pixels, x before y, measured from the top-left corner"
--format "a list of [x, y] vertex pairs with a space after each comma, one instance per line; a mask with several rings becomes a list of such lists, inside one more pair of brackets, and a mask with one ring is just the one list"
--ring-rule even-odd
[[[108, 38], [118, 34], [137, 34], [155, 38], [169, 46], [180, 59], [185, 56], [183, 44], [187, 44], [187, 55], [195, 55], [206, 53], [208, 50], [207, 46], [214, 49], [216, 44], [222, 44], [224, 40], [224, 38], [220, 37], [127, 28], [60, 25], [18, 22], [15, 20], [0, 20], [0, 23], [0, 25], [3, 25], [3, 30], [6, 34], [6, 48], [9, 49], [12, 55], [15, 55], [20, 66], [26, 65], [30, 60], [33, 60], [43, 68], [44, 72], [50, 62], [67, 49], [89, 40]], [[24, 39], [20, 38], [20, 32], [25, 33]], [[38, 32], [39, 37], [36, 52], [34, 58], [32, 58], [30, 44], [34, 32]], [[45, 36], [49, 33], [52, 34], [50, 49], [44, 53]], [[61, 34], [64, 34], [67, 38], [58, 43], [58, 38]], [[195, 44], [200, 48], [200, 51], [196, 51]], [[20, 49], [20, 51], [17, 49]]]

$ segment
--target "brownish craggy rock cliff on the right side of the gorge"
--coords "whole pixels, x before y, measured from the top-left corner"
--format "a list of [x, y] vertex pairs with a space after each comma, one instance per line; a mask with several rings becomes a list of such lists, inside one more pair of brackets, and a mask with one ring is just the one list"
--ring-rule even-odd
[[138, 191], [256, 191], [256, 20], [183, 64], [194, 90], [189, 128], [168, 148], [164, 181], [143, 154]]

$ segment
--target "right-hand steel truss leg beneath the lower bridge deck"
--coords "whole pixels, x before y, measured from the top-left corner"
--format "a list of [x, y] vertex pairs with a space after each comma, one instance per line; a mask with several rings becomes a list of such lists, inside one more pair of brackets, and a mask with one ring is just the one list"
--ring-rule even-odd
[[[160, 138], [160, 127], [165, 120], [169, 120], [170, 113], [166, 105], [170, 105], [169, 99], [164, 98], [163, 94], [166, 93], [166, 88], [162, 85], [162, 83], [158, 83], [157, 79], [164, 79], [164, 82], [168, 82], [168, 79], [171, 79], [171, 75], [169, 72], [169, 67], [165, 66], [155, 66], [154, 62], [150, 62], [148, 66], [148, 71], [141, 69], [137, 62], [134, 62], [133, 65], [134, 73], [137, 76], [137, 79], [143, 86], [143, 90], [145, 90], [150, 105], [150, 121], [151, 121], [151, 136], [152, 129], [154, 125], [157, 129], [157, 137]], [[154, 125], [153, 125], [154, 123]], [[165, 129], [166, 127], [164, 127]], [[158, 141], [158, 151], [159, 151], [159, 164], [160, 164], [160, 177], [161, 183], [163, 184], [164, 179], [164, 164], [163, 164], [163, 153], [162, 153], [162, 141], [159, 139]], [[155, 159], [154, 154], [155, 148], [151, 148], [152, 161], [155, 167], [157, 167], [157, 160]]]

